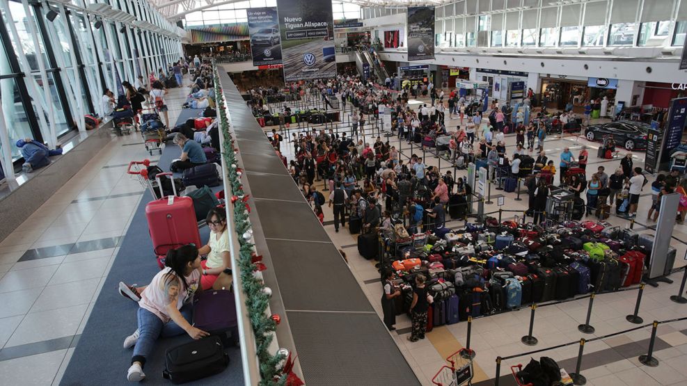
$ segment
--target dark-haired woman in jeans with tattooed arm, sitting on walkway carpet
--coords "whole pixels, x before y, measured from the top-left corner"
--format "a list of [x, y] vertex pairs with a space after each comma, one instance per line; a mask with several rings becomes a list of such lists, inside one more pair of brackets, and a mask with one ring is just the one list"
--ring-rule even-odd
[[139, 325], [124, 339], [124, 348], [134, 346], [127, 371], [129, 382], [145, 379], [143, 367], [159, 337], [173, 337], [184, 332], [193, 339], [210, 335], [191, 325], [194, 294], [203, 290], [200, 266], [200, 254], [193, 244], [169, 250], [165, 268], [147, 287], [140, 289]]

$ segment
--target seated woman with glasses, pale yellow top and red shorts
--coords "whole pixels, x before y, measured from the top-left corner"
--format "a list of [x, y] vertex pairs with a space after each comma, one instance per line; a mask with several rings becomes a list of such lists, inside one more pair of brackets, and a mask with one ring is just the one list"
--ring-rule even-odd
[[203, 266], [200, 284], [203, 284], [203, 288], [210, 289], [222, 272], [231, 274], [231, 255], [229, 255], [229, 232], [224, 209], [210, 209], [206, 220], [207, 226], [210, 227], [210, 239], [198, 252], [200, 255], [207, 255], [207, 259], [200, 262]]

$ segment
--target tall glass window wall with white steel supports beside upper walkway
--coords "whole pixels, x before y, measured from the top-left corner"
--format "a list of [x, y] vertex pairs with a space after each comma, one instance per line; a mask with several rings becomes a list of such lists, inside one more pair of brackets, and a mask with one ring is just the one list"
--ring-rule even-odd
[[21, 158], [13, 145], [17, 139], [58, 143], [77, 127], [84, 129], [79, 122], [83, 115], [102, 115], [104, 88], [116, 93], [121, 81], [134, 83], [136, 75], [182, 55], [180, 38], [173, 35], [176, 26], [152, 4], [109, 1], [112, 8], [155, 24], [172, 37], [89, 14], [85, 9], [90, 3], [95, 1], [74, 0], [77, 7], [27, 0], [0, 3], [0, 100], [13, 161]]

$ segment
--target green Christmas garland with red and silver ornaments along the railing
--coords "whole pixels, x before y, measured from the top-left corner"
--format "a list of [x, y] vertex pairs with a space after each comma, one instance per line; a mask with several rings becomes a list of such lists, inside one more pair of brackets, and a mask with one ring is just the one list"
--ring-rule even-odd
[[[237, 166], [237, 149], [234, 146], [234, 138], [229, 130], [229, 120], [226, 113], [226, 102], [219, 83], [219, 74], [214, 68], [214, 92], [219, 118], [219, 129], [223, 134], [222, 156], [228, 168], [228, 182], [231, 188], [231, 202], [234, 204], [234, 230], [239, 241], [239, 256], [237, 265], [241, 277], [242, 291], [246, 297], [246, 308], [251, 320], [251, 327], [255, 335], [255, 354], [260, 365], [260, 385], [298, 385], [294, 383], [294, 374], [290, 371], [292, 362], [287, 360], [289, 352], [281, 348], [276, 354], [269, 353], [269, 345], [274, 339], [274, 332], [278, 323], [278, 315], [268, 315], [269, 298], [271, 290], [262, 282], [262, 272], [265, 268], [260, 262], [260, 257], [253, 243], [253, 230], [248, 214], [251, 207], [248, 205], [248, 196], [244, 194], [241, 183], [242, 170]], [[286, 360], [286, 361], [285, 361]], [[298, 378], [296, 378], [298, 379]]]

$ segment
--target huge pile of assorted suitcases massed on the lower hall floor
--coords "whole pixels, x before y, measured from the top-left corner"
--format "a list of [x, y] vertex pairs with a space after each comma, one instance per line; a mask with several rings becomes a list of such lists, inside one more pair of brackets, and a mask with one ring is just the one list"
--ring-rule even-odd
[[488, 217], [484, 225], [430, 236], [425, 246], [380, 250], [379, 270], [393, 271], [404, 291], [398, 314], [408, 312], [414, 279], [425, 275], [434, 298], [428, 318], [443, 325], [638, 284], [652, 243], [608, 223], [567, 221], [544, 229]]

